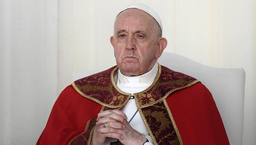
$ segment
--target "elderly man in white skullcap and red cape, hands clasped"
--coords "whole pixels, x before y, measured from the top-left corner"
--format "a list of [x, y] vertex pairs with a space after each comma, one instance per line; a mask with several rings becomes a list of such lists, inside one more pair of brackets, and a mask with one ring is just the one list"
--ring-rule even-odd
[[121, 11], [110, 42], [117, 66], [65, 88], [38, 145], [229, 144], [207, 88], [158, 64], [167, 40], [151, 8]]

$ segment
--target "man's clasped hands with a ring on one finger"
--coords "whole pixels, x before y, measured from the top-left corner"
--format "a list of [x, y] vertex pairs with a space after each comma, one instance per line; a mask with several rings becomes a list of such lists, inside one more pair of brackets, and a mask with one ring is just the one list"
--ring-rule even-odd
[[147, 140], [130, 126], [124, 112], [117, 109], [98, 113], [91, 145], [102, 145], [106, 137], [117, 138], [124, 145], [143, 145]]

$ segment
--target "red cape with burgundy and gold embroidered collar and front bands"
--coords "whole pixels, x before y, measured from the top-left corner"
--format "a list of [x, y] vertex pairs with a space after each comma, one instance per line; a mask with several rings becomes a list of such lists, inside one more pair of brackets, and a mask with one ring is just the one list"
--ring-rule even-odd
[[[151, 87], [136, 94], [139, 112], [147, 122], [154, 144], [228, 145], [225, 128], [208, 89], [190, 76], [160, 65], [158, 68]], [[116, 69], [110, 68], [66, 87], [55, 102], [37, 145], [90, 143], [93, 119], [98, 113], [120, 109], [128, 101], [129, 94], [113, 84]], [[153, 105], [163, 110], [156, 110]], [[158, 117], [166, 118], [159, 121]]]

